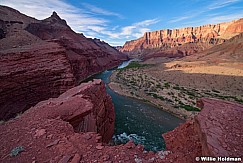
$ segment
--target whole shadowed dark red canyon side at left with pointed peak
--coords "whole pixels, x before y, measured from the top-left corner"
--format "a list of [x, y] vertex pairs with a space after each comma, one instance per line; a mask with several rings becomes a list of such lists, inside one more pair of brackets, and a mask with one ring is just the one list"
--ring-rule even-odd
[[36, 20], [0, 6], [0, 119], [57, 97], [127, 56], [75, 33], [57, 13]]

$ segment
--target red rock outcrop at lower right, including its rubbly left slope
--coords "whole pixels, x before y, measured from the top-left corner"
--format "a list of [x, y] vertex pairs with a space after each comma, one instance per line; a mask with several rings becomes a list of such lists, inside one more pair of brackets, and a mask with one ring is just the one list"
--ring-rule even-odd
[[197, 105], [202, 111], [193, 120], [163, 135], [176, 162], [195, 162], [200, 156], [242, 159], [243, 105], [207, 98]]

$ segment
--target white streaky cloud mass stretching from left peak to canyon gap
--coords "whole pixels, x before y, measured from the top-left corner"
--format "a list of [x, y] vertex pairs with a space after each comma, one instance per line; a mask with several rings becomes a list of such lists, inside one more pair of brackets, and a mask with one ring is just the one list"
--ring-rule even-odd
[[[1, 5], [6, 5], [19, 10], [20, 12], [35, 17], [45, 19], [56, 11], [58, 15], [65, 19], [71, 28], [84, 33], [88, 37], [98, 37], [114, 45], [122, 45], [127, 39], [141, 37], [152, 24], [159, 22], [158, 19], [149, 19], [137, 22], [128, 26], [110, 26], [109, 17], [124, 19], [121, 14], [108, 11], [88, 3], [81, 3], [82, 8], [78, 8], [64, 0], [1, 0]], [[104, 17], [105, 16], [105, 17]]]

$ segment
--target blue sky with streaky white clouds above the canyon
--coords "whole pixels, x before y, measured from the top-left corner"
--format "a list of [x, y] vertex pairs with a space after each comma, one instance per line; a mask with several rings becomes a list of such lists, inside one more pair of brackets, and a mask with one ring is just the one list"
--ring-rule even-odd
[[243, 0], [0, 0], [39, 20], [53, 11], [77, 33], [112, 46], [145, 32], [243, 18]]

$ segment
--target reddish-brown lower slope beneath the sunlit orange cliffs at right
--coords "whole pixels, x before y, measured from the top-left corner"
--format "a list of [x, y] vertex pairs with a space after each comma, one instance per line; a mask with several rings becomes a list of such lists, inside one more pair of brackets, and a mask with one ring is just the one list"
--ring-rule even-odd
[[[184, 61], [219, 61], [239, 62], [243, 60], [243, 33], [236, 35], [224, 43], [205, 48], [200, 43], [184, 44], [181, 47], [174, 47], [168, 50], [150, 53], [144, 59], [155, 57], [184, 57]], [[193, 54], [193, 55], [191, 55]], [[189, 56], [188, 56], [189, 55]], [[186, 56], [186, 57], [185, 57]]]

